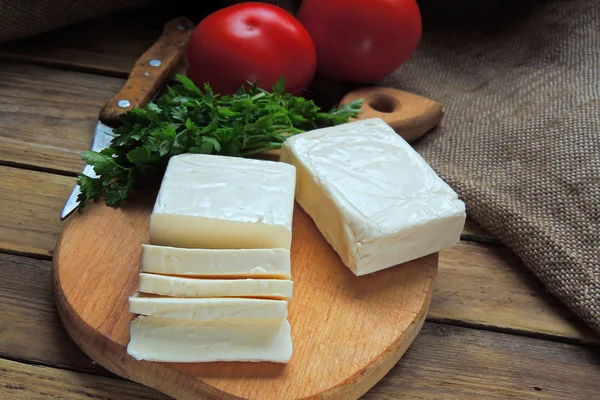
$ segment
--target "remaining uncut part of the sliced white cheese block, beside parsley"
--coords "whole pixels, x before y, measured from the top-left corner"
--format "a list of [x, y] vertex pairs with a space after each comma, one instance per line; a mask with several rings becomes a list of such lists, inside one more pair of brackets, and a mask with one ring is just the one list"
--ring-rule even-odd
[[296, 171], [275, 161], [172, 157], [150, 218], [154, 245], [289, 249]]

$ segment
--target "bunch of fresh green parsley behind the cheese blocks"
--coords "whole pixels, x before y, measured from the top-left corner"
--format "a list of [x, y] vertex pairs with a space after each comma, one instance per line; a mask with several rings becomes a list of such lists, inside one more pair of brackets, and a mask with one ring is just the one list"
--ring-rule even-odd
[[362, 106], [357, 100], [322, 112], [312, 100], [286, 93], [283, 78], [271, 93], [250, 84], [232, 96], [214, 94], [208, 84], [202, 91], [182, 75], [177, 79], [156, 101], [121, 115], [110, 147], [81, 153], [98, 178], [79, 174], [79, 211], [103, 195], [107, 205], [119, 205], [140, 181], [161, 174], [172, 156], [254, 156], [281, 148], [291, 135], [346, 123]]

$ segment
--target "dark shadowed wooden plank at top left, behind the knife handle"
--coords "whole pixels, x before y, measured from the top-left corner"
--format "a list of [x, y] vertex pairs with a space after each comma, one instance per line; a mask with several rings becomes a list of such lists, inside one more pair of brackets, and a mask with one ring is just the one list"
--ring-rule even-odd
[[0, 59], [125, 78], [168, 20], [184, 15], [198, 22], [222, 6], [215, 0], [155, 2], [3, 44]]

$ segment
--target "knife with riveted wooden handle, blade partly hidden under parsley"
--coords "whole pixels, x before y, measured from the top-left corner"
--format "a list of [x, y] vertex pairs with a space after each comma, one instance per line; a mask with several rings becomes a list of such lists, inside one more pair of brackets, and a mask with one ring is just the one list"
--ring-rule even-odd
[[[165, 24], [160, 37], [135, 62], [121, 90], [100, 110], [94, 129], [92, 151], [101, 151], [110, 146], [114, 137], [113, 128], [120, 124], [119, 115], [132, 108], [143, 107], [158, 95], [179, 65], [193, 30], [194, 24], [185, 17], [175, 18]], [[90, 165], [83, 168], [82, 174], [91, 178], [98, 177]], [[79, 186], [75, 185], [62, 210], [61, 220], [79, 206], [79, 193]]]

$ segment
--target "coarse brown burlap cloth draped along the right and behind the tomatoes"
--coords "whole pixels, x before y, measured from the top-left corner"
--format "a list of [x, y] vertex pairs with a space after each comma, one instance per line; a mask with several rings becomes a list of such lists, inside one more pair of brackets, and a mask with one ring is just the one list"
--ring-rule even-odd
[[[143, 2], [0, 0], [0, 40]], [[382, 82], [445, 105], [415, 148], [600, 333], [600, 2], [420, 6], [420, 47]]]

